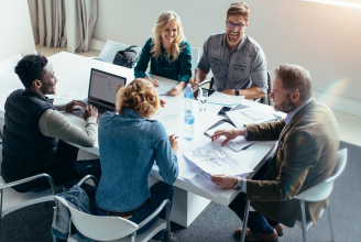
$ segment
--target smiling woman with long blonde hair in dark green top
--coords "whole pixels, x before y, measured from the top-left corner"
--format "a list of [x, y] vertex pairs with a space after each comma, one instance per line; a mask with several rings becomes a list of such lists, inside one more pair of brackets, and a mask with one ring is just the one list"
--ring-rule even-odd
[[190, 46], [185, 41], [180, 18], [173, 11], [162, 13], [142, 50], [140, 59], [134, 67], [134, 76], [151, 80], [145, 70], [151, 61], [150, 74], [177, 80], [178, 84], [167, 91], [168, 96], [177, 96], [192, 77]]

